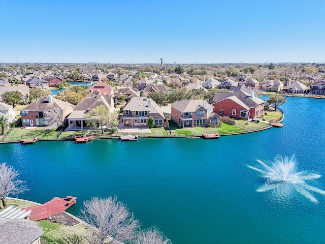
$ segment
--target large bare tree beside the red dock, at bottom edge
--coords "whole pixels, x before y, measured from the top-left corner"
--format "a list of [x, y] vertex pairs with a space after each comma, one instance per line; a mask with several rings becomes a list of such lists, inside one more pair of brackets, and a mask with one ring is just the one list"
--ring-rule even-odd
[[103, 244], [107, 238], [110, 238], [110, 244], [127, 242], [134, 238], [140, 226], [133, 213], [117, 201], [116, 196], [105, 199], [92, 197], [91, 200], [84, 201], [83, 206], [81, 218], [92, 229], [92, 244]]

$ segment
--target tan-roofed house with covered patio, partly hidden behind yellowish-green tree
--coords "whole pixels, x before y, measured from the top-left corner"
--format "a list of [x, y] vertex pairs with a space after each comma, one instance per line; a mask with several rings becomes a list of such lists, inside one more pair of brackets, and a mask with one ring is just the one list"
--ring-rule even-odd
[[86, 125], [86, 114], [95, 107], [104, 105], [110, 112], [114, 113], [114, 100], [112, 95], [87, 95], [82, 99], [68, 116], [69, 130], [88, 129]]

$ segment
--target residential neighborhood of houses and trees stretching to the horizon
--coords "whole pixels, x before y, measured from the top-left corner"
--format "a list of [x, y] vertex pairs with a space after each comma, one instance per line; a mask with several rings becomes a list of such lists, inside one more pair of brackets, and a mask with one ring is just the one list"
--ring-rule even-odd
[[[312, 65], [300, 65], [300, 73], [297, 65], [272, 66], [272, 70], [268, 65], [238, 67], [188, 66], [177, 73], [172, 66], [159, 65], [135, 69], [122, 65], [1, 65], [1, 114], [8, 118], [8, 125], [17, 121], [23, 127], [47, 126], [46, 111], [56, 107], [62, 111], [65, 130], [82, 131], [99, 129], [99, 125], [91, 128], [87, 124], [87, 114], [103, 105], [119, 119], [120, 131], [148, 128], [149, 117], [154, 127], [169, 127], [169, 121], [180, 128], [218, 127], [222, 117], [263, 117], [267, 104], [259, 98], [261, 94], [317, 98], [325, 94], [323, 66], [311, 69], [318, 70], [314, 74], [303, 72]], [[52, 95], [55, 90], [58, 92]], [[17, 98], [11, 100], [8, 95]], [[23, 107], [16, 110], [15, 105]]]

